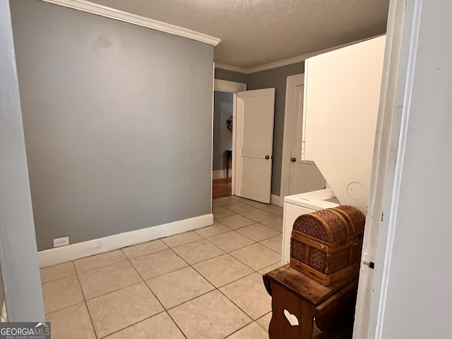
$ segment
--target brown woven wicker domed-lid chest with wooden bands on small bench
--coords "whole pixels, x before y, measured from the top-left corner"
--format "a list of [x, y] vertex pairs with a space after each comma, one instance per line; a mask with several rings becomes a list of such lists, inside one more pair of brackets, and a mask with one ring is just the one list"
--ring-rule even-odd
[[290, 239], [290, 267], [324, 286], [357, 278], [365, 215], [338, 206], [300, 215]]

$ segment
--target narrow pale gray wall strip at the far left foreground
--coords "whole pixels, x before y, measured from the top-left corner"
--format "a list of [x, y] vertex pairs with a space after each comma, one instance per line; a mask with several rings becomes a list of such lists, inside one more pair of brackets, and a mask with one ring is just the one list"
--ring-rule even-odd
[[0, 0], [0, 42], [1, 276], [8, 320], [44, 321], [8, 0]]

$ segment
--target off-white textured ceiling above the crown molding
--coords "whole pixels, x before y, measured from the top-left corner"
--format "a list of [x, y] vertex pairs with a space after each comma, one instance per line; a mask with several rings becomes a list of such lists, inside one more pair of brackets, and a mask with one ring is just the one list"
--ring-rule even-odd
[[219, 37], [215, 62], [249, 69], [386, 32], [389, 0], [91, 0]]

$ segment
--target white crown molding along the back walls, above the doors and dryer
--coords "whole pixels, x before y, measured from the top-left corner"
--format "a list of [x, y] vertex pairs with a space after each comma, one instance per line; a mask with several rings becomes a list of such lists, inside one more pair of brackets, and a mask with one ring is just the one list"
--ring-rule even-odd
[[363, 41], [370, 40], [370, 39], [373, 39], [373, 38], [374, 37], [368, 37], [366, 39], [357, 40], [357, 41], [354, 41], [354, 42], [348, 42], [347, 44], [341, 44], [339, 46], [335, 46], [335, 47], [331, 47], [331, 48], [327, 48], [327, 49], [322, 49], [321, 51], [308, 53], [308, 54], [303, 54], [303, 55], [300, 55], [298, 57], [292, 57], [292, 58], [289, 58], [289, 59], [283, 59], [283, 60], [280, 60], [280, 61], [270, 62], [269, 64], [263, 64], [261, 66], [251, 67], [249, 69], [243, 69], [241, 67], [230, 66], [230, 65], [226, 65], [226, 64], [216, 64], [215, 67], [217, 69], [224, 69], [226, 71], [233, 71], [233, 72], [239, 72], [239, 73], [244, 73], [244, 74], [256, 73], [256, 72], [260, 72], [260, 71], [267, 71], [268, 69], [276, 69], [278, 67], [283, 67], [283, 66], [288, 66], [288, 65], [292, 65], [292, 64], [297, 64], [297, 62], [305, 61], [306, 59], [309, 59], [311, 57], [315, 57], [316, 55], [323, 54], [323, 53], [328, 53], [328, 52], [334, 51], [335, 49], [340, 49], [340, 48], [343, 48], [343, 47], [347, 47], [347, 46], [350, 46], [351, 44], [357, 44], [359, 42], [363, 42]]

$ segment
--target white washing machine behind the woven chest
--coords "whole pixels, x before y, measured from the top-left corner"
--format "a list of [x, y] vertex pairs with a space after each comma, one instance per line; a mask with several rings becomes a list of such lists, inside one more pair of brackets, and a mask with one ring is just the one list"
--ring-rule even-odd
[[321, 189], [319, 191], [285, 196], [282, 265], [290, 261], [290, 234], [292, 233], [295, 219], [302, 214], [323, 210], [324, 208], [333, 208], [339, 205], [340, 203], [331, 189]]

